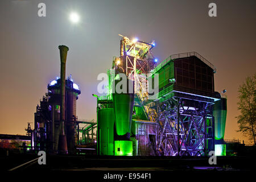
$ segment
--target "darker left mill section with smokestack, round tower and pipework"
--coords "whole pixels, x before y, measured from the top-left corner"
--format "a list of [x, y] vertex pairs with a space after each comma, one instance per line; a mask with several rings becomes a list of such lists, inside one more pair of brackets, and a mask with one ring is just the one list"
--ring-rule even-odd
[[[31, 136], [30, 148], [33, 151], [47, 151], [49, 154], [86, 153], [83, 151], [86, 144], [95, 145], [97, 123], [77, 118], [76, 100], [81, 91], [71, 76], [65, 79], [68, 47], [59, 46], [59, 49], [60, 78], [48, 84], [46, 96], [36, 106], [34, 130], [30, 125], [26, 129], [28, 136]], [[90, 149], [96, 150], [95, 147]]]

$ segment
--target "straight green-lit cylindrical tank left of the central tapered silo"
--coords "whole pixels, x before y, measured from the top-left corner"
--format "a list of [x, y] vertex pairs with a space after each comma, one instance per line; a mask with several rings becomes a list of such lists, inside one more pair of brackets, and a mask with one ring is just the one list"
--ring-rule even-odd
[[98, 110], [98, 154], [114, 155], [114, 109]]

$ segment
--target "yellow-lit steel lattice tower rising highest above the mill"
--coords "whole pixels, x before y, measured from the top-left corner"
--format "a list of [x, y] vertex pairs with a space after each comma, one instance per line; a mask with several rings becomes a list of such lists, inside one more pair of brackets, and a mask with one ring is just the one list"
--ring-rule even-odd
[[154, 40], [151, 43], [146, 43], [122, 36], [120, 56], [114, 60], [115, 64], [120, 63], [119, 66], [122, 67], [127, 78], [134, 81], [135, 105], [143, 107], [149, 121], [155, 121], [156, 118], [156, 111], [144, 105], [144, 101], [148, 100], [147, 78], [150, 71], [156, 66], [151, 51], [154, 46]]

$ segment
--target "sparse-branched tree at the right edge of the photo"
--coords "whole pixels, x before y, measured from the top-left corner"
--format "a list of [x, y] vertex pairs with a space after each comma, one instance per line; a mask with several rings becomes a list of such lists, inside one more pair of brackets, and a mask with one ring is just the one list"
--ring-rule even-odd
[[241, 111], [238, 115], [237, 123], [239, 132], [255, 143], [256, 135], [256, 73], [253, 77], [246, 77], [245, 82], [240, 85], [238, 92], [239, 102], [237, 109]]

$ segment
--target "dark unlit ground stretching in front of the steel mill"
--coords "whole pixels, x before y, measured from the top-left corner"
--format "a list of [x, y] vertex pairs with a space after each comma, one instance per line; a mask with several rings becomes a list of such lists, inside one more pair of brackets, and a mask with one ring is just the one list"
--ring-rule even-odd
[[[155, 181], [170, 175], [183, 178], [195, 174], [219, 174], [232, 175], [233, 177], [243, 175], [254, 175], [256, 171], [256, 160], [254, 156], [217, 156], [217, 164], [210, 165], [208, 157], [186, 158], [186, 157], [121, 157], [121, 156], [96, 156], [96, 155], [46, 155], [46, 165], [38, 164], [35, 154], [13, 154], [0, 156], [1, 172], [7, 175], [12, 173], [37, 174], [63, 174], [77, 173], [77, 177], [90, 175], [96, 181]], [[20, 164], [22, 167], [13, 169]], [[13, 169], [13, 171], [9, 171]], [[188, 175], [182, 175], [188, 174]], [[63, 175], [59, 175], [62, 176]], [[115, 176], [114, 176], [115, 175]], [[122, 175], [122, 179], [117, 179]], [[216, 177], [216, 175], [214, 175]], [[214, 177], [212, 176], [212, 177]], [[195, 176], [194, 176], [195, 177]], [[107, 179], [106, 179], [107, 178]], [[115, 178], [115, 179], [113, 179]], [[139, 179], [138, 179], [139, 178]]]

